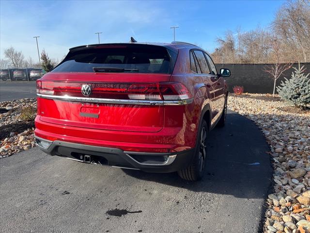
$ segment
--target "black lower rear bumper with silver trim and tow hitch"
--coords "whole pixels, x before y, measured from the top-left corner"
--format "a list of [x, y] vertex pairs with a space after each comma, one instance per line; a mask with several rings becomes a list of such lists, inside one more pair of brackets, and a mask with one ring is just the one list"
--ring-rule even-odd
[[193, 149], [173, 153], [148, 153], [60, 140], [48, 141], [37, 136], [36, 140], [40, 149], [50, 155], [58, 155], [80, 162], [138, 169], [145, 172], [165, 173], [178, 171], [187, 167], [191, 163], [193, 156]]

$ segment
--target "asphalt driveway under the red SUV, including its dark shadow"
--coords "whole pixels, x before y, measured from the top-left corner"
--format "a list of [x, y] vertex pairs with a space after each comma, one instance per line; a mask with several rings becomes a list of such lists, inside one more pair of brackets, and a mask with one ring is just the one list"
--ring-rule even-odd
[[38, 148], [0, 159], [1, 232], [261, 232], [272, 177], [262, 133], [230, 111], [227, 125], [210, 133], [209, 149], [200, 182]]

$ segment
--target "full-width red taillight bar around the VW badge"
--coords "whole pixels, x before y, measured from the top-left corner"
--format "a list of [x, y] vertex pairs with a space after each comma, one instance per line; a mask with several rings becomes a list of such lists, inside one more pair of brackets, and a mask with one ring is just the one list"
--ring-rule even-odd
[[[37, 93], [54, 96], [85, 97], [84, 83], [37, 81]], [[176, 82], [159, 83], [87, 83], [91, 94], [87, 98], [115, 100], [187, 100], [191, 98], [186, 86]]]

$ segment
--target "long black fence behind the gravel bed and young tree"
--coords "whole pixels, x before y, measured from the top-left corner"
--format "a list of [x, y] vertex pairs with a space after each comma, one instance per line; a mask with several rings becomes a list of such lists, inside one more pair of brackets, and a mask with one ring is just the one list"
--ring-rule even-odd
[[[306, 72], [310, 72], [310, 63], [302, 63], [305, 66]], [[273, 79], [270, 74], [263, 71], [266, 64], [216, 64], [217, 71], [220, 68], [228, 68], [231, 70], [232, 75], [225, 78], [229, 86], [229, 92], [233, 92], [233, 86], [243, 86], [244, 92], [248, 93], [272, 93], [273, 92]], [[298, 67], [298, 64], [293, 64], [293, 67]], [[277, 85], [284, 80], [291, 78], [294, 71], [290, 68], [277, 80]]]

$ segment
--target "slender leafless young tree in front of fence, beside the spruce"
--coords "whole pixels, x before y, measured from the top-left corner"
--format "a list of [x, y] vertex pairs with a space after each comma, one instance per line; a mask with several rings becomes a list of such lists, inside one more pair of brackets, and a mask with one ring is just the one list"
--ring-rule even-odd
[[274, 64], [266, 65], [264, 67], [264, 71], [269, 73], [271, 77], [274, 80], [274, 86], [273, 86], [273, 94], [272, 96], [275, 96], [275, 90], [276, 90], [276, 82], [279, 79], [279, 77], [283, 74], [283, 72], [289, 68], [292, 67], [292, 63], [286, 63], [281, 64], [280, 63], [280, 55], [281, 55], [281, 42], [279, 38], [273, 37], [271, 39], [271, 48], [272, 48], [272, 55], [274, 57]]

